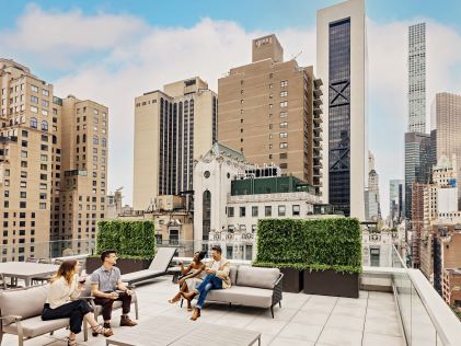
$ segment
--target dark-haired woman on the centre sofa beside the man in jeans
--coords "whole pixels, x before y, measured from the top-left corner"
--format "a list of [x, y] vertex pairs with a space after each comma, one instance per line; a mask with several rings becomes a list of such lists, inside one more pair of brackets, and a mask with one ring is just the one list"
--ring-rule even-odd
[[[184, 268], [183, 264], [181, 263], [181, 272], [184, 275], [178, 284], [180, 284], [180, 291], [176, 296], [169, 300], [170, 303], [175, 303], [181, 299], [182, 292], [192, 292], [198, 286], [204, 277], [206, 276], [205, 273], [205, 264], [201, 260], [205, 258], [205, 252], [196, 252], [194, 254], [193, 262], [188, 265], [188, 267]], [[192, 311], [191, 301], [187, 300], [187, 311]]]

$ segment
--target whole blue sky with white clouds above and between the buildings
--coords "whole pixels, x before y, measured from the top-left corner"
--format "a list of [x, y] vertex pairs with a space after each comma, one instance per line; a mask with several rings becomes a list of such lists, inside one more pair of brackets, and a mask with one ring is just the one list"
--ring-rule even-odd
[[[275, 33], [285, 58], [315, 68], [315, 12], [339, 1], [0, 0], [0, 57], [31, 68], [55, 94], [110, 108], [108, 192], [132, 200], [134, 100], [199, 76], [217, 91], [230, 68], [251, 61], [251, 41]], [[380, 176], [404, 177], [407, 26], [427, 23], [427, 119], [437, 92], [461, 94], [461, 1], [368, 0], [368, 147]], [[429, 130], [429, 126], [427, 130]]]

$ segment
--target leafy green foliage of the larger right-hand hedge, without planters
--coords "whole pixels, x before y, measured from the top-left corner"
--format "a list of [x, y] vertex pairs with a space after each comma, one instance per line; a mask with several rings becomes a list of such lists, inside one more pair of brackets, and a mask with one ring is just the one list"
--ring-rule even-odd
[[254, 265], [360, 273], [361, 251], [357, 219], [264, 219]]

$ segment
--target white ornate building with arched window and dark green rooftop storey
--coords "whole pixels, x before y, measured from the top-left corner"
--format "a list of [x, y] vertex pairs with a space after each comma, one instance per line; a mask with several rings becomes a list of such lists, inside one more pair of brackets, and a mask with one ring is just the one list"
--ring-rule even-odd
[[228, 257], [253, 260], [258, 220], [329, 217], [313, 186], [281, 176], [279, 168], [251, 164], [219, 142], [197, 160], [194, 180], [194, 239], [199, 250], [220, 244]]

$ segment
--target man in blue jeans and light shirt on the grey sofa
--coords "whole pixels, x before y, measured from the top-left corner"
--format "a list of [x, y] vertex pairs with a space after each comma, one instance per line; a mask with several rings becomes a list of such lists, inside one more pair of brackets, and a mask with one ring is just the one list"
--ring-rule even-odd
[[211, 289], [229, 288], [231, 280], [229, 277], [230, 262], [222, 257], [221, 246], [211, 247], [212, 261], [208, 264], [205, 272], [207, 276], [192, 292], [182, 292], [183, 297], [188, 301], [193, 300], [195, 296], [199, 295], [197, 305], [191, 318], [192, 321], [200, 316], [200, 311], [204, 308], [205, 298]]

